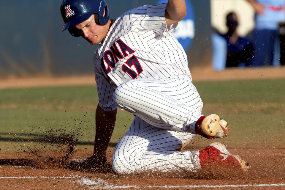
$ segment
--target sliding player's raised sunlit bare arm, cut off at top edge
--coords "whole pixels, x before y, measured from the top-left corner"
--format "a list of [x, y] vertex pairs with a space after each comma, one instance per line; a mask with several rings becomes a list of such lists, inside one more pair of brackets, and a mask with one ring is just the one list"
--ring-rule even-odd
[[184, 0], [168, 0], [165, 9], [167, 26], [181, 21], [186, 16], [186, 3]]

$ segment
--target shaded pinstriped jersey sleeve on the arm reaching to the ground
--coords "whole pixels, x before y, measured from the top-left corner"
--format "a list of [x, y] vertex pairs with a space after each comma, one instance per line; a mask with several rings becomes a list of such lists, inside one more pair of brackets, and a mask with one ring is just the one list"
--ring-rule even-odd
[[113, 111], [117, 109], [117, 105], [113, 101], [113, 93], [115, 91], [115, 87], [110, 84], [107, 78], [102, 74], [98, 62], [99, 60], [96, 57], [93, 57], [94, 63], [94, 72], [96, 75], [96, 85], [99, 99], [99, 106], [106, 112]]

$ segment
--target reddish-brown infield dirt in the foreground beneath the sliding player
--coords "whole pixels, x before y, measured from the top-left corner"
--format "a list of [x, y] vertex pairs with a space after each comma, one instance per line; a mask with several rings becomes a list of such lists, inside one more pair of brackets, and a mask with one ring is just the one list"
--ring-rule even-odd
[[[190, 148], [191, 149], [191, 148]], [[188, 149], [188, 150], [190, 150]], [[187, 150], [187, 149], [186, 149]], [[192, 149], [191, 149], [192, 150]], [[137, 175], [116, 175], [111, 169], [110, 159], [103, 169], [93, 167], [66, 167], [49, 163], [33, 167], [1, 166], [0, 182], [4, 189], [165, 189], [163, 186], [177, 186], [172, 189], [189, 189], [183, 186], [197, 186], [197, 189], [207, 189], [205, 186], [224, 186], [215, 189], [246, 189], [234, 187], [245, 184], [278, 184], [285, 183], [284, 149], [231, 149], [229, 152], [240, 154], [250, 163], [248, 171], [241, 173], [235, 170], [206, 168], [197, 172], [152, 173]], [[73, 157], [82, 158], [91, 152], [76, 152]], [[107, 157], [111, 158], [112, 150]], [[13, 156], [14, 159], [15, 156]], [[1, 154], [1, 159], [11, 158]], [[18, 157], [19, 158], [19, 157]], [[205, 172], [207, 171], [207, 172]], [[15, 178], [3, 178], [3, 177]], [[35, 178], [18, 178], [33, 176]], [[44, 178], [41, 178], [44, 176]], [[74, 176], [74, 178], [68, 178]], [[60, 177], [60, 178], [56, 178]], [[66, 178], [64, 178], [66, 177]], [[89, 183], [83, 182], [89, 181]], [[121, 186], [121, 188], [118, 188]], [[160, 188], [155, 188], [161, 186]], [[204, 187], [203, 187], [204, 186]], [[117, 188], [115, 188], [117, 187]], [[199, 188], [198, 188], [199, 187]], [[283, 186], [284, 187], [284, 186]], [[249, 189], [283, 189], [282, 186], [250, 186]], [[191, 188], [195, 189], [195, 188]]]

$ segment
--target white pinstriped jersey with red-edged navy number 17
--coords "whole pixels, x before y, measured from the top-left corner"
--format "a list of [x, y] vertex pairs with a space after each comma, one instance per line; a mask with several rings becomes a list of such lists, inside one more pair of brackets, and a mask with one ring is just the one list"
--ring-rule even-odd
[[[116, 109], [112, 95], [120, 84], [138, 78], [185, 75], [191, 80], [186, 53], [167, 26], [165, 4], [129, 10], [110, 27], [93, 57], [99, 106]], [[192, 80], [191, 80], [192, 81]]]

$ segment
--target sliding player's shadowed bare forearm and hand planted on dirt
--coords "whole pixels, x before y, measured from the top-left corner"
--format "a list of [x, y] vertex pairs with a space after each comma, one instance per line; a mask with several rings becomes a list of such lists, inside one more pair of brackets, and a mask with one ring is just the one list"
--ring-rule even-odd
[[96, 135], [93, 155], [86, 162], [100, 163], [106, 161], [106, 151], [113, 134], [117, 109], [111, 112], [104, 111], [99, 105], [96, 109]]

